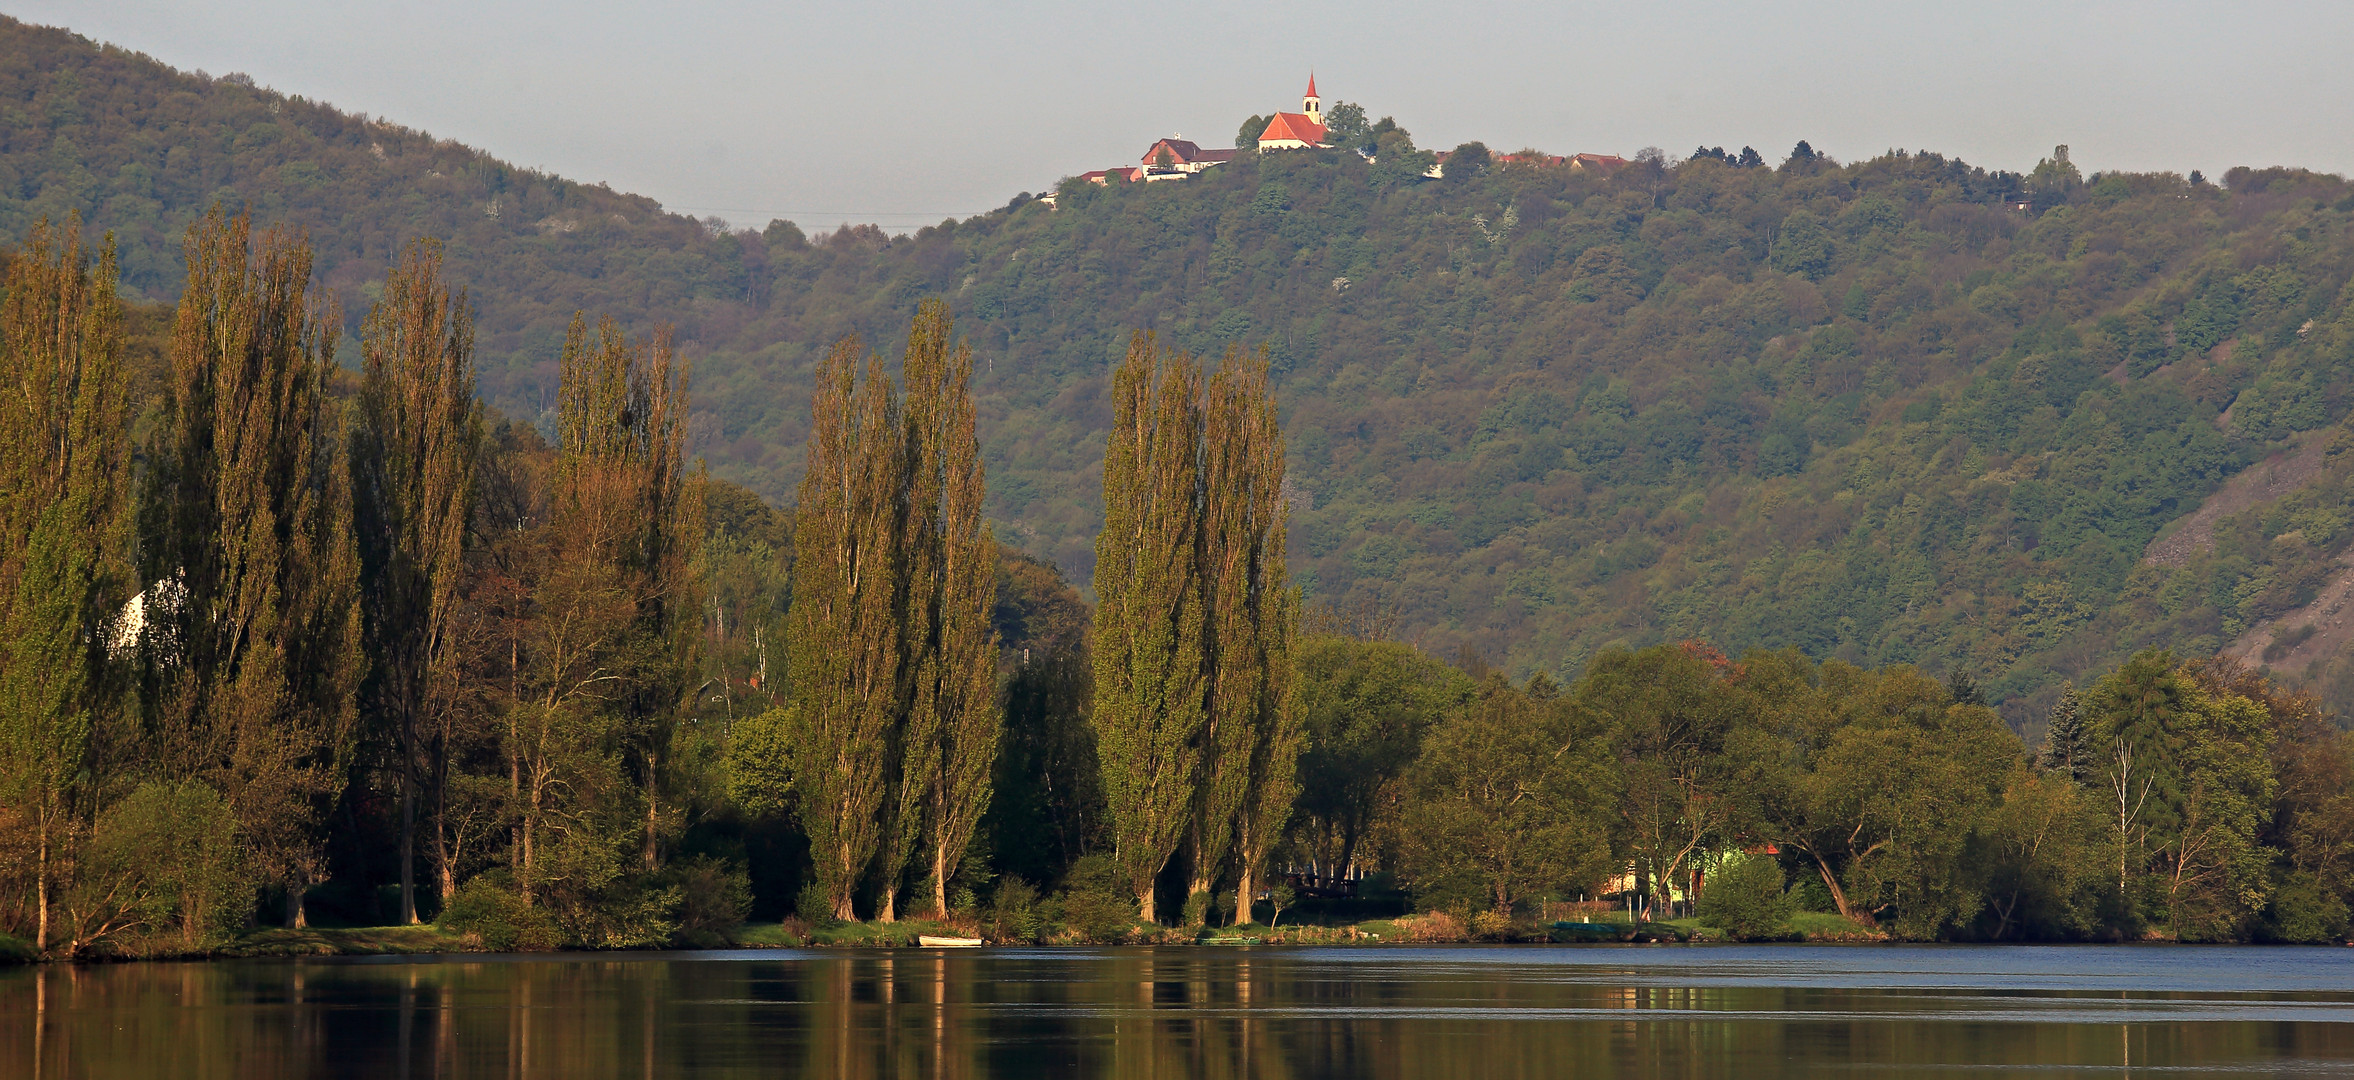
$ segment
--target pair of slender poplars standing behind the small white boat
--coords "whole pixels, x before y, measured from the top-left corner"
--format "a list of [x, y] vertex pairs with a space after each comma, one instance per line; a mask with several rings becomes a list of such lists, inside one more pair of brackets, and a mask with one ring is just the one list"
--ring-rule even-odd
[[[982, 522], [972, 346], [942, 301], [909, 327], [892, 386], [859, 339], [817, 372], [786, 612], [789, 776], [814, 887], [836, 918], [876, 885], [895, 920], [916, 878], [946, 915], [989, 807], [998, 704], [996, 544]], [[859, 369], [864, 367], [864, 379]]]

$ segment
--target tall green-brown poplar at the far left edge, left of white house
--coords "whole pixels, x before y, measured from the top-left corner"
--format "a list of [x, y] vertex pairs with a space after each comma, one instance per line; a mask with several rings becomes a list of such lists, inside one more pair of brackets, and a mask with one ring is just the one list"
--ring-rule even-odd
[[33, 948], [106, 706], [122, 600], [125, 379], [115, 247], [35, 224], [0, 280], [0, 821], [33, 847]]

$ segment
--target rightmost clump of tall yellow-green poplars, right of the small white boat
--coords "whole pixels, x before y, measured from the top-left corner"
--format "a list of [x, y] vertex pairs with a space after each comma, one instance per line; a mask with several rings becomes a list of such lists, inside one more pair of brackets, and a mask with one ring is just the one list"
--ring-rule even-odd
[[1290, 821], [1299, 595], [1283, 555], [1266, 355], [1229, 351], [1205, 376], [1137, 334], [1111, 379], [1092, 722], [1113, 856], [1146, 922], [1179, 854], [1189, 918], [1231, 880], [1248, 920]]

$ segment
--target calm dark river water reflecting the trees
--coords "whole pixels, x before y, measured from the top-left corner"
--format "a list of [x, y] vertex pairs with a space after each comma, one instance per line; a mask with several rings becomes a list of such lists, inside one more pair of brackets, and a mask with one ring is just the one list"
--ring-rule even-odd
[[993, 948], [0, 972], [28, 1078], [2354, 1075], [2354, 948]]

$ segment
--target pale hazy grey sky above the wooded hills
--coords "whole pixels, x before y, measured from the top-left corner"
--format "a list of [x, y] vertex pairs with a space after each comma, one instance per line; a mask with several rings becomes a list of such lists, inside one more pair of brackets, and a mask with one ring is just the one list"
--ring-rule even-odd
[[1250, 113], [1422, 146], [1808, 139], [2024, 169], [2354, 172], [2338, 2], [28, 0], [7, 14], [737, 224], [965, 216]]

